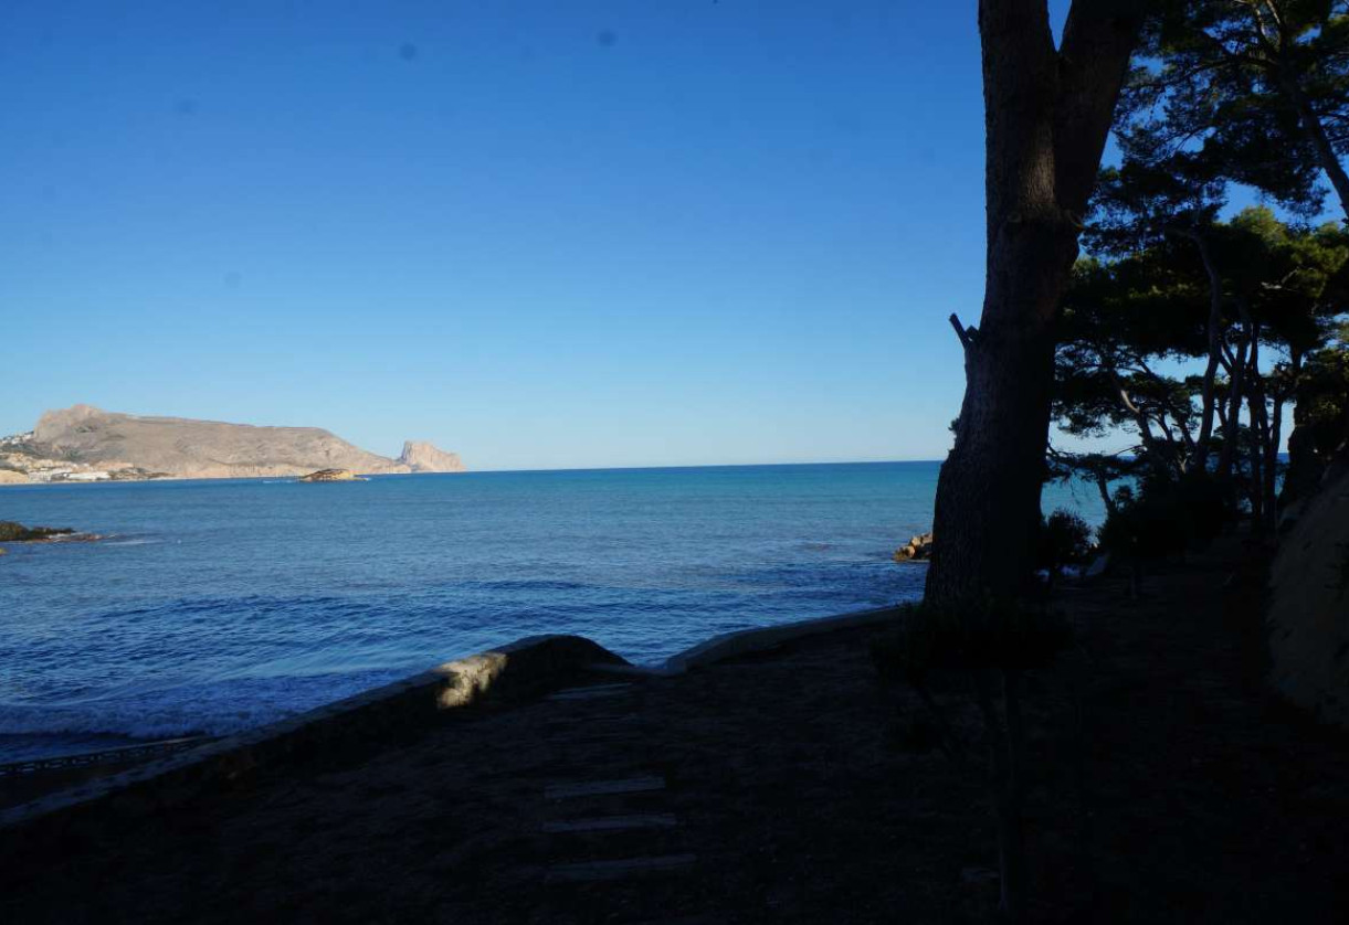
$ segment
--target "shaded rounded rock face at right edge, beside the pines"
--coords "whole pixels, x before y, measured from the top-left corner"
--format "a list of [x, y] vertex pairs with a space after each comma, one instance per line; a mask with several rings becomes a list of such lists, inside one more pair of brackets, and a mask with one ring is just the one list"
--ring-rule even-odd
[[1294, 703], [1349, 728], [1349, 472], [1329, 473], [1269, 572], [1271, 680]]

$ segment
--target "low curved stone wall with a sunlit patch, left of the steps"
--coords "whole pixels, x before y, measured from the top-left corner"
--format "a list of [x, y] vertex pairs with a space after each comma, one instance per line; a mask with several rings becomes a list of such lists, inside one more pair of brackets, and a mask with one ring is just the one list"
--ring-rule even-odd
[[0, 863], [8, 851], [24, 848], [24, 829], [39, 818], [43, 837], [59, 839], [69, 825], [155, 813], [263, 766], [349, 755], [372, 743], [414, 735], [442, 719], [444, 711], [545, 693], [592, 665], [626, 662], [581, 636], [530, 636], [190, 752], [138, 765], [0, 812]]

